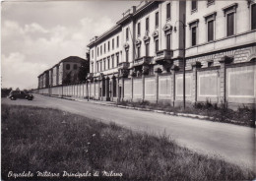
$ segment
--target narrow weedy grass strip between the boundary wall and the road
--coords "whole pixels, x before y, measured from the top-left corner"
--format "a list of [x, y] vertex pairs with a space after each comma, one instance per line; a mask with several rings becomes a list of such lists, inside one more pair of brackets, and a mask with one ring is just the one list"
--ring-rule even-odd
[[247, 106], [239, 107], [236, 111], [226, 108], [226, 105], [217, 105], [206, 101], [205, 103], [195, 103], [193, 106], [187, 106], [184, 110], [182, 107], [173, 107], [168, 102], [152, 103], [149, 101], [131, 102], [120, 101], [118, 105], [132, 106], [139, 108], [148, 108], [162, 110], [174, 113], [189, 113], [212, 117], [211, 121], [231, 123], [236, 125], [248, 126], [255, 128], [256, 109]]

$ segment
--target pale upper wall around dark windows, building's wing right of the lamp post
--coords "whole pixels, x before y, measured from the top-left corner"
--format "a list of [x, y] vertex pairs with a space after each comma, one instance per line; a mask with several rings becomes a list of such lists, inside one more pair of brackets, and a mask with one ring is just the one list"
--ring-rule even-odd
[[[226, 35], [226, 16], [223, 8], [237, 4], [234, 13], [234, 35]], [[214, 24], [214, 41], [208, 42], [207, 24], [204, 16], [216, 12]], [[256, 40], [256, 31], [251, 31], [251, 8], [245, 1], [215, 1], [208, 6], [207, 1], [198, 1], [197, 11], [191, 13], [191, 1], [186, 4], [187, 23], [199, 20], [197, 28], [197, 45], [191, 47], [191, 30], [186, 28], [186, 56], [196, 55], [227, 47], [245, 44]]]

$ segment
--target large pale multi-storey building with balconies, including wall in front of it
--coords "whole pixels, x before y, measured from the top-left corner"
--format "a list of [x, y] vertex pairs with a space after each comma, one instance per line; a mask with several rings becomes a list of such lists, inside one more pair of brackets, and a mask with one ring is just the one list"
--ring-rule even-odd
[[145, 1], [132, 7], [88, 45], [91, 96], [179, 104], [185, 56], [187, 102], [254, 103], [255, 4]]

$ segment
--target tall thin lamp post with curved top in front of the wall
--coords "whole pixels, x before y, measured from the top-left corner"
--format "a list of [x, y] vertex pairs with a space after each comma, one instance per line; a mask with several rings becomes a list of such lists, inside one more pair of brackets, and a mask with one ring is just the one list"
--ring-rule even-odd
[[[185, 20], [185, 19], [183, 19], [183, 20]], [[185, 72], [186, 72], [186, 59], [185, 59], [185, 49], [186, 49], [186, 45], [185, 45], [185, 30], [186, 30], [186, 25], [182, 22], [182, 21], [180, 21], [180, 20], [178, 20], [178, 21], [176, 21], [175, 22], [175, 26], [174, 26], [174, 32], [176, 32], [177, 31], [177, 29], [176, 29], [176, 23], [181, 23], [182, 24], [182, 28], [183, 28], [183, 46], [184, 46], [184, 49], [183, 49], [183, 51], [184, 51], [184, 54], [183, 54], [183, 109], [185, 109], [185, 107], [186, 107], [186, 82], [185, 82]]]

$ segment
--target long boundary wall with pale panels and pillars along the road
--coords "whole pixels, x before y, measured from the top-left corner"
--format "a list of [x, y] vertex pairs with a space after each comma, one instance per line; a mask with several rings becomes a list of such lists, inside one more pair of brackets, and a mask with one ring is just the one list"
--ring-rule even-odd
[[[256, 65], [255, 62], [236, 64], [221, 63], [221, 66], [198, 68], [193, 67], [185, 74], [186, 102], [227, 103], [229, 106], [255, 104], [256, 100]], [[103, 80], [104, 81], [104, 80]], [[102, 81], [85, 84], [39, 89], [33, 92], [52, 96], [70, 96], [101, 99]], [[156, 73], [153, 76], [116, 79], [117, 98], [113, 101], [152, 101], [169, 102], [180, 105], [183, 100], [183, 74], [181, 71]], [[109, 84], [111, 82], [109, 81]], [[117, 87], [118, 86], [118, 87]], [[121, 92], [119, 91], [121, 89]]]

